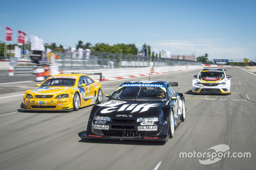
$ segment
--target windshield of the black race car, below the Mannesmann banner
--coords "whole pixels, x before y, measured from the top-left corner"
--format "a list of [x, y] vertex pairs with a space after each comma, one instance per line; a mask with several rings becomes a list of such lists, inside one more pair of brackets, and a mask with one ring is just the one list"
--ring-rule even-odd
[[113, 99], [123, 100], [166, 100], [165, 87], [118, 87]]

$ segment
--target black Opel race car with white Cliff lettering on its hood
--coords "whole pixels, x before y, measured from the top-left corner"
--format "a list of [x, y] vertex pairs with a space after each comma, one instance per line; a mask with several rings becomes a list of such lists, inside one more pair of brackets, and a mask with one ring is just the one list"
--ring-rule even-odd
[[167, 141], [185, 120], [184, 94], [167, 81], [127, 81], [94, 105], [84, 138]]

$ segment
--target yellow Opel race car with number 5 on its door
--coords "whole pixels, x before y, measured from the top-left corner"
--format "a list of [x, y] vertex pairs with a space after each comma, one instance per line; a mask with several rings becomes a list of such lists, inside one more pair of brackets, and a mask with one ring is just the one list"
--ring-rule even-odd
[[20, 110], [78, 110], [102, 101], [102, 85], [85, 74], [58, 74], [27, 90]]

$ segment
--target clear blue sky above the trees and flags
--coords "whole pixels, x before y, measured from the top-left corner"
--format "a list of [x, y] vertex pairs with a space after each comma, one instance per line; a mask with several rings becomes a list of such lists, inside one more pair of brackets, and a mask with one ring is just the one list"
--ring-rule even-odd
[[[0, 2], [0, 41], [17, 43], [17, 30], [68, 48], [81, 40], [172, 55], [212, 59], [256, 58], [255, 0], [44, 0]], [[13, 30], [5, 41], [5, 26]]]

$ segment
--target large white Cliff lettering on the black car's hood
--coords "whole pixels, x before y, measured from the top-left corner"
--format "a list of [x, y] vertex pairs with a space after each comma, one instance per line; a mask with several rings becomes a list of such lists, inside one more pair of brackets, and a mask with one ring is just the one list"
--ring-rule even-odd
[[128, 111], [128, 110], [131, 110], [131, 113], [138, 112], [138, 111], [140, 111], [139, 113], [141, 113], [141, 112], [148, 111], [150, 109], [150, 107], [157, 107], [159, 105], [160, 104], [156, 104], [156, 103], [153, 103], [153, 104], [144, 103], [144, 104], [139, 104], [139, 105], [138, 104], [125, 104], [125, 105], [121, 106], [119, 109], [117, 109], [118, 107], [108, 107], [108, 108], [102, 109], [100, 111], [100, 113], [105, 114], [105, 113], [111, 113], [114, 111], [120, 112], [120, 111]]

